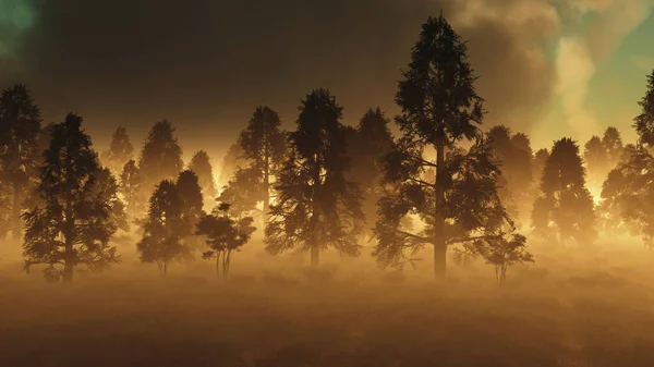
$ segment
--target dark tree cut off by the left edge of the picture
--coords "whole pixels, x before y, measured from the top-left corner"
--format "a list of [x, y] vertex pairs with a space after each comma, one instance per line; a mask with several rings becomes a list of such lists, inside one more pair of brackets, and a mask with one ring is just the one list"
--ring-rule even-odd
[[[29, 191], [29, 174], [38, 166], [41, 115], [29, 90], [17, 84], [0, 95], [0, 181], [11, 185], [11, 231], [21, 236], [21, 212]], [[7, 201], [8, 197], [3, 198]], [[5, 203], [7, 204], [7, 203]]]

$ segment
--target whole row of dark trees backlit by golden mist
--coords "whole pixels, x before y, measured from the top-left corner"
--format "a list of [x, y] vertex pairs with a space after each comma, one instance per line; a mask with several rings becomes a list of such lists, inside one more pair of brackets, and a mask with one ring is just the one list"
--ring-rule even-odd
[[[654, 244], [654, 73], [639, 143], [623, 146], [609, 127], [583, 152], [570, 138], [534, 152], [525, 134], [484, 133], [475, 81], [465, 42], [443, 15], [429, 19], [396, 95], [400, 136], [380, 108], [344, 125], [327, 89], [301, 100], [292, 132], [262, 106], [225, 158], [220, 193], [206, 151], [184, 167], [171, 122], [153, 126], [137, 158], [124, 127], [98, 156], [81, 117], [43, 125], [16, 85], [0, 97], [0, 235], [23, 238], [26, 270], [64, 281], [118, 264], [118, 231], [137, 233], [141, 260], [162, 274], [199, 252], [223, 277], [257, 227], [268, 253], [305, 250], [314, 266], [327, 249], [358, 256], [374, 237], [373, 256], [392, 269], [432, 246], [441, 277], [456, 246], [455, 259], [484, 258], [500, 283], [509, 266], [534, 260], [526, 230], [579, 244], [630, 230]], [[586, 173], [603, 185], [598, 205]]]

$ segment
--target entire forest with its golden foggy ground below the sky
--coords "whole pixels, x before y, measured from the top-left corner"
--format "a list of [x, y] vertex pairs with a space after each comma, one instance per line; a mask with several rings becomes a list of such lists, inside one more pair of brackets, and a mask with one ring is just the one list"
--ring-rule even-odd
[[0, 365], [651, 366], [654, 71], [637, 142], [535, 150], [443, 14], [408, 57], [398, 115], [316, 88], [187, 162], [172, 121], [98, 151], [8, 86]]

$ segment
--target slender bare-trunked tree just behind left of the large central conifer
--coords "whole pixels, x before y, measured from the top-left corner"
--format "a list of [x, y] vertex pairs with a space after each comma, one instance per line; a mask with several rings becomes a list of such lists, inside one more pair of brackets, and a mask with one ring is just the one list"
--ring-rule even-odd
[[239, 145], [243, 148], [243, 157], [249, 162], [246, 172], [255, 175], [247, 181], [261, 183], [259, 189], [252, 195], [261, 195], [257, 201], [263, 203], [264, 222], [266, 222], [270, 206], [270, 178], [281, 168], [286, 152], [286, 136], [281, 130], [279, 114], [267, 106], [257, 107], [247, 127], [239, 136]]

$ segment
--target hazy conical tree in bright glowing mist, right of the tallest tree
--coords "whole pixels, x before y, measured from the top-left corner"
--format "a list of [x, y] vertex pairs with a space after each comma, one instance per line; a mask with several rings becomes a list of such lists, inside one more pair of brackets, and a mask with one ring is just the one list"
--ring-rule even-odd
[[562, 138], [554, 144], [534, 203], [536, 234], [558, 234], [560, 241], [593, 242], [596, 236], [594, 203], [585, 187], [585, 172], [577, 143]]

